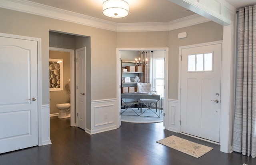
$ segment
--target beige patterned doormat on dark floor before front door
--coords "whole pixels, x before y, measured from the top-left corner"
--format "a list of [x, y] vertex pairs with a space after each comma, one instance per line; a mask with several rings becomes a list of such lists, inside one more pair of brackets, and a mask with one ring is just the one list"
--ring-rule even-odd
[[208, 153], [213, 149], [212, 147], [194, 143], [174, 135], [158, 140], [156, 142], [196, 158]]

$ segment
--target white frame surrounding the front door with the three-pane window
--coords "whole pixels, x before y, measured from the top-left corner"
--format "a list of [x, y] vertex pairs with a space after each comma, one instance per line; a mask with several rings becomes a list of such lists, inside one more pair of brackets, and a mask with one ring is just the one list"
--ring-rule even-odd
[[[194, 45], [188, 45], [188, 46], [180, 46], [179, 47], [179, 76], [178, 76], [178, 89], [179, 89], [179, 91], [181, 90], [181, 50], [182, 49], [186, 49], [186, 48], [193, 48], [193, 47], [199, 47], [199, 46], [208, 46], [208, 45], [213, 45], [213, 44], [222, 44], [222, 49], [223, 49], [223, 41], [221, 40], [221, 41], [214, 41], [214, 42], [206, 42], [206, 43], [202, 43], [202, 44], [194, 44]], [[221, 59], [222, 59], [222, 56], [223, 56], [223, 51], [221, 51], [222, 52], [222, 55], [221, 55]], [[221, 64], [220, 64], [221, 66], [222, 66], [222, 62], [221, 62]], [[223, 70], [224, 68], [223, 67], [221, 67], [221, 75], [220, 75], [220, 78], [221, 78], [221, 83], [220, 83], [220, 88], [222, 89], [222, 70]], [[221, 90], [222, 91], [222, 90]], [[221, 92], [222, 93], [222, 92]], [[179, 102], [179, 105], [181, 105], [181, 93], [180, 92], [178, 92], [178, 102]], [[221, 102], [221, 101], [220, 101]], [[178, 109], [178, 113], [177, 113], [177, 116], [175, 117], [176, 118], [176, 120], [177, 121], [180, 121], [180, 113], [181, 113], [181, 109], [180, 109], [180, 107], [181, 106], [179, 106], [179, 109]], [[220, 106], [220, 112], [222, 111], [222, 106]], [[220, 119], [222, 118], [222, 113], [220, 113]], [[176, 125], [177, 125], [177, 130], [178, 130], [178, 132], [180, 132], [180, 124], [177, 124], [176, 123]], [[221, 138], [221, 131], [220, 131], [220, 138]], [[195, 137], [195, 136], [193, 136], [193, 137]], [[196, 137], [196, 138], [198, 138], [198, 137]], [[202, 139], [202, 138], [198, 138], [198, 139]], [[202, 140], [205, 140], [205, 139], [202, 139]], [[206, 141], [209, 141], [209, 140], [206, 140]], [[210, 141], [210, 142], [212, 142], [212, 141]], [[214, 143], [214, 142], [212, 142], [212, 143]], [[219, 143], [217, 143], [217, 144], [219, 144]]]

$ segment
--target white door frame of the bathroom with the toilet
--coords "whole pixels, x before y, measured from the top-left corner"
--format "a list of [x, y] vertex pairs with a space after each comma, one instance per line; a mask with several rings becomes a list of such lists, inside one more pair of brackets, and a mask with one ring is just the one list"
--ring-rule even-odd
[[76, 126], [76, 111], [75, 111], [75, 50], [64, 49], [64, 48], [54, 48], [49, 47], [49, 50], [58, 52], [69, 52], [70, 53], [70, 125], [72, 127]]

